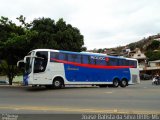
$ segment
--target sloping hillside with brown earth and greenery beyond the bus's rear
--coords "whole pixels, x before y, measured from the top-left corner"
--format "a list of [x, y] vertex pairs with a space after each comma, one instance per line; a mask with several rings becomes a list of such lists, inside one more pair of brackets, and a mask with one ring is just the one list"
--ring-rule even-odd
[[148, 60], [159, 60], [160, 59], [160, 34], [152, 35], [138, 42], [130, 43], [126, 46], [120, 46], [116, 48], [104, 48], [104, 49], [94, 49], [92, 52], [104, 53], [114, 56], [125, 56], [125, 50], [130, 49], [131, 51], [136, 48], [140, 50], [147, 56]]

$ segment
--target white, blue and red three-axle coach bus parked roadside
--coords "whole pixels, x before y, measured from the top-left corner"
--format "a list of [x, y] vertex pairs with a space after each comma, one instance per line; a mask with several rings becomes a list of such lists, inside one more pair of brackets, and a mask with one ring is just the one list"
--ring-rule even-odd
[[46, 88], [62, 88], [65, 85], [126, 87], [140, 82], [138, 62], [131, 58], [35, 49], [22, 61], [25, 64], [25, 85]]

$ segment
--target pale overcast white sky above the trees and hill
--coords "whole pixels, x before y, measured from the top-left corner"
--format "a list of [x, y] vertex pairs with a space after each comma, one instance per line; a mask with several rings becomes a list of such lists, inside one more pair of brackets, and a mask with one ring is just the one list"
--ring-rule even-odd
[[160, 33], [160, 0], [0, 0], [13, 22], [49, 17], [77, 27], [87, 49], [112, 48]]

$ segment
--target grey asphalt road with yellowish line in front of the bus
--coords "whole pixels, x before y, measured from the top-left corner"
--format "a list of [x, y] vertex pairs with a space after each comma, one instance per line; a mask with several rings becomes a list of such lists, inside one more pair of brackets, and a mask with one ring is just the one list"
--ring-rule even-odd
[[126, 88], [64, 89], [0, 86], [0, 113], [135, 113], [160, 114], [160, 85], [151, 81]]

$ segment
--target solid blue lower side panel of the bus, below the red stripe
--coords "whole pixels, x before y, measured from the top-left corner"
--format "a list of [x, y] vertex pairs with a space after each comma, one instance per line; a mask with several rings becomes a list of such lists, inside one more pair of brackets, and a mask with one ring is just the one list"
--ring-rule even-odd
[[112, 82], [114, 78], [130, 80], [129, 68], [96, 69], [64, 64], [66, 79], [70, 82]]

